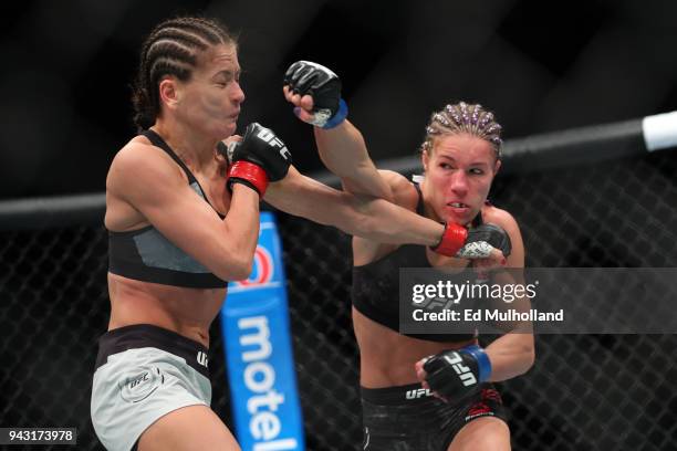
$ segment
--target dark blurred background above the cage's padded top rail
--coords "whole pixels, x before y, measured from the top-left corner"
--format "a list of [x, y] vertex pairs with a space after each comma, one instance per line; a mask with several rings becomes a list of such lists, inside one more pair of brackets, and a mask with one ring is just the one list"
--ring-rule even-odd
[[677, 109], [677, 2], [23, 1], [0, 19], [0, 198], [103, 191], [134, 134], [129, 82], [146, 33], [178, 13], [240, 35], [252, 120], [321, 169], [310, 126], [281, 94], [295, 60], [344, 81], [375, 159], [413, 155], [449, 101], [497, 112], [506, 137]]

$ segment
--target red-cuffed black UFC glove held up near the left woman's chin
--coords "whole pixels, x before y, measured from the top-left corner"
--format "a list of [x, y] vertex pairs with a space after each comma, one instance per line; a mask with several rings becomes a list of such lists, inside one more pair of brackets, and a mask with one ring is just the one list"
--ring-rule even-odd
[[291, 165], [291, 154], [284, 143], [270, 129], [258, 123], [249, 124], [240, 143], [228, 146], [227, 186], [243, 183], [256, 190], [260, 197], [265, 193], [269, 181], [278, 181], [287, 176]]

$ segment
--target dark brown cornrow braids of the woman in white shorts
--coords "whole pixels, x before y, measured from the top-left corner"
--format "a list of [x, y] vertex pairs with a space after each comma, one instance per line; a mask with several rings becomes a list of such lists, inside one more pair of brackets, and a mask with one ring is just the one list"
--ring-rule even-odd
[[132, 86], [134, 124], [138, 132], [150, 127], [160, 112], [159, 82], [173, 75], [190, 80], [200, 53], [213, 45], [237, 45], [227, 29], [212, 19], [180, 17], [158, 24], [146, 38]]

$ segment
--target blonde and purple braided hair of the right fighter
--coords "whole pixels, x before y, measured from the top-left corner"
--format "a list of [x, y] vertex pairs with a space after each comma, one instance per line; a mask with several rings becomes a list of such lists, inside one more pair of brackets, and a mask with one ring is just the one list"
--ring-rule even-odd
[[493, 113], [485, 109], [480, 104], [459, 102], [447, 105], [441, 111], [430, 115], [430, 123], [426, 127], [426, 138], [420, 146], [421, 150], [431, 150], [433, 140], [441, 135], [457, 135], [467, 133], [491, 144], [497, 157], [501, 158], [501, 126], [496, 122]]

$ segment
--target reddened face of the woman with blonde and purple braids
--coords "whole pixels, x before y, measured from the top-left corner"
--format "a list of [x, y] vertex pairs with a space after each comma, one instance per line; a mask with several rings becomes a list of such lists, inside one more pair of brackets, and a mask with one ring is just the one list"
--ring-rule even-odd
[[436, 138], [423, 164], [424, 198], [436, 219], [464, 226], [482, 208], [500, 167], [491, 144], [469, 134]]

